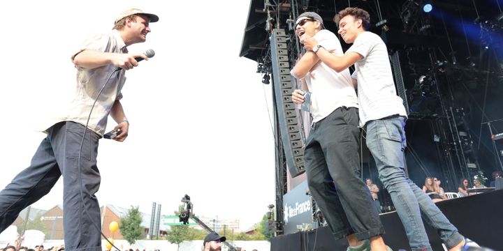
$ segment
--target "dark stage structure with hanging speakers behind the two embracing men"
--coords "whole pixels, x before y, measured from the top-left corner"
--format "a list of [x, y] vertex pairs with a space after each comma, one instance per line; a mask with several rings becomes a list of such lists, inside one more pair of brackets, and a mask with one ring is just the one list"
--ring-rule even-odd
[[[423, 11], [425, 3], [433, 6], [430, 13]], [[333, 17], [348, 6], [370, 13], [370, 31], [388, 47], [397, 93], [409, 115], [405, 156], [411, 180], [421, 187], [425, 177], [435, 176], [446, 192], [455, 192], [461, 178], [472, 185], [476, 174], [491, 180], [493, 172], [503, 171], [503, 0], [251, 0], [240, 56], [256, 61], [263, 84], [272, 87], [276, 205], [269, 215], [277, 238], [324, 228], [305, 185], [302, 147], [309, 114], [300, 112], [290, 98], [298, 83], [289, 71], [303, 51], [295, 20], [302, 12], [314, 11], [326, 29], [337, 33]], [[340, 42], [343, 50], [349, 48]], [[365, 142], [362, 146], [361, 176], [382, 188]], [[498, 195], [501, 198], [495, 191], [481, 199]], [[379, 197], [385, 211], [393, 211], [386, 190], [381, 189]], [[439, 207], [463, 208], [462, 203], [471, 200], [442, 201]], [[473, 200], [481, 204], [470, 213], [484, 215], [492, 207], [488, 201]], [[496, 208], [501, 210], [501, 204]], [[381, 217], [386, 222], [390, 216]], [[474, 228], [489, 227], [482, 222], [471, 223]], [[503, 236], [499, 228], [492, 231]]]

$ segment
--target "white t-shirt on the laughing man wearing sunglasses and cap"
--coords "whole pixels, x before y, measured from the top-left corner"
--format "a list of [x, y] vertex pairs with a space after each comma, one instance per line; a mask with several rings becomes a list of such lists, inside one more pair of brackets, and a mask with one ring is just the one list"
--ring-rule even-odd
[[[342, 56], [342, 46], [334, 33], [323, 29], [314, 36], [325, 50]], [[305, 76], [311, 94], [311, 114], [313, 123], [324, 119], [338, 107], [357, 107], [358, 98], [349, 69], [337, 73], [321, 60]]]

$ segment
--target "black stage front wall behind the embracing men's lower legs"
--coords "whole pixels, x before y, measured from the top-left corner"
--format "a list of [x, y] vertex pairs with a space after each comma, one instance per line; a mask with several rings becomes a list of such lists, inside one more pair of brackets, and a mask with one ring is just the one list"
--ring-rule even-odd
[[[481, 247], [503, 251], [503, 190], [449, 199], [437, 203], [440, 210], [461, 234]], [[384, 241], [393, 250], [410, 250], [402, 222], [395, 211], [381, 214], [386, 234]], [[435, 230], [426, 231], [433, 250], [444, 250]], [[271, 251], [346, 250], [345, 239], [336, 241], [328, 227], [277, 236], [271, 241]]]

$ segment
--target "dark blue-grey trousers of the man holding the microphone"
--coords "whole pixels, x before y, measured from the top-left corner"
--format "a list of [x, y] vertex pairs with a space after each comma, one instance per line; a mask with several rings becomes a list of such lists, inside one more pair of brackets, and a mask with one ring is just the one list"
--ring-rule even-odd
[[14, 222], [22, 209], [47, 195], [63, 176], [65, 250], [101, 251], [100, 209], [94, 196], [101, 181], [96, 166], [100, 136], [87, 130], [80, 152], [84, 128], [68, 121], [48, 130], [31, 165], [0, 192], [0, 232]]

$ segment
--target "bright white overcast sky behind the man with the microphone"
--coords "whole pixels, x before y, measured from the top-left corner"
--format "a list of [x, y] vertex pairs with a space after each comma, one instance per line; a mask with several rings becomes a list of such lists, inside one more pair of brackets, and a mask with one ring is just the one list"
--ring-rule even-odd
[[[150, 214], [156, 202], [173, 215], [187, 194], [196, 215], [249, 229], [275, 204], [270, 85], [239, 56], [249, 1], [0, 1], [0, 187], [29, 166], [44, 119], [71, 100], [70, 56], [131, 7], [159, 15], [147, 41], [129, 47], [155, 56], [126, 72], [129, 137], [100, 141], [100, 204]], [[62, 197], [60, 178], [32, 206]]]

